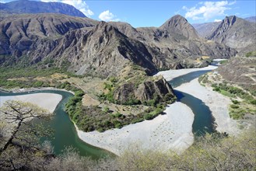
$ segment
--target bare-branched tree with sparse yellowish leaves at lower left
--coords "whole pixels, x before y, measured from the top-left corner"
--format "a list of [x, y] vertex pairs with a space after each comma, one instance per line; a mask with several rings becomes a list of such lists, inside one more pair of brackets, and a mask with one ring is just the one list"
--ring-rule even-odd
[[[0, 168], [26, 169], [26, 165], [44, 156], [40, 138], [49, 136], [49, 131], [33, 119], [49, 116], [49, 112], [32, 103], [8, 100], [0, 108], [2, 145], [0, 147]], [[1, 131], [0, 131], [1, 132]]]

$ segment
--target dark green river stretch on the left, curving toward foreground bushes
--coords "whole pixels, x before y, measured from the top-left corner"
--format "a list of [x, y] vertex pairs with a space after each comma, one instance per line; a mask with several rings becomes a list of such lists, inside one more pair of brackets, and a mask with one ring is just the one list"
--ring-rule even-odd
[[58, 103], [58, 106], [54, 110], [54, 117], [47, 122], [47, 124], [54, 131], [54, 138], [51, 138], [51, 145], [54, 146], [55, 154], [61, 154], [61, 151], [65, 149], [65, 147], [72, 146], [79, 151], [80, 155], [90, 156], [92, 159], [100, 159], [108, 155], [114, 156], [112, 153], [107, 152], [106, 150], [88, 145], [79, 139], [75, 131], [74, 124], [69, 119], [68, 114], [64, 111], [65, 103], [68, 101], [69, 97], [73, 96], [72, 93], [59, 90], [40, 90], [29, 93], [0, 92], [0, 96], [17, 96], [40, 92], [55, 93], [62, 96], [61, 102]]

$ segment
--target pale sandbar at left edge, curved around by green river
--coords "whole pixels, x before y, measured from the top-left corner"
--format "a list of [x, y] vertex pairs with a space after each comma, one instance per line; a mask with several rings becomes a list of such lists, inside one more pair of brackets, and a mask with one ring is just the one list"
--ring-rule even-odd
[[2, 104], [5, 103], [5, 101], [8, 99], [33, 103], [53, 113], [56, 106], [61, 101], [62, 96], [54, 93], [35, 93], [19, 96], [0, 96], [0, 106], [2, 106]]

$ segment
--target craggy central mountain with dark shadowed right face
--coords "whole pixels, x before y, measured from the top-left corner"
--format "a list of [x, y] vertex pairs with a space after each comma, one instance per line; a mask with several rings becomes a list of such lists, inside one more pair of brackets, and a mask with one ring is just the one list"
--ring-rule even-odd
[[100, 22], [87, 33], [74, 30], [65, 34], [48, 56], [68, 59], [71, 62], [69, 69], [78, 74], [117, 75], [131, 61], [150, 74], [157, 71], [144, 44], [126, 37], [105, 22]]

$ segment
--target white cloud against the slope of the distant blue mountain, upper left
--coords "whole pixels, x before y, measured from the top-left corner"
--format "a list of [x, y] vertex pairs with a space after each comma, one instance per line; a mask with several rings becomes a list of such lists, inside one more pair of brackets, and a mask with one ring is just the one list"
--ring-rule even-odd
[[72, 5], [75, 9], [79, 9], [84, 15], [90, 17], [93, 16], [94, 13], [89, 9], [89, 6], [83, 0], [40, 0], [41, 2], [62, 2], [68, 5]]

